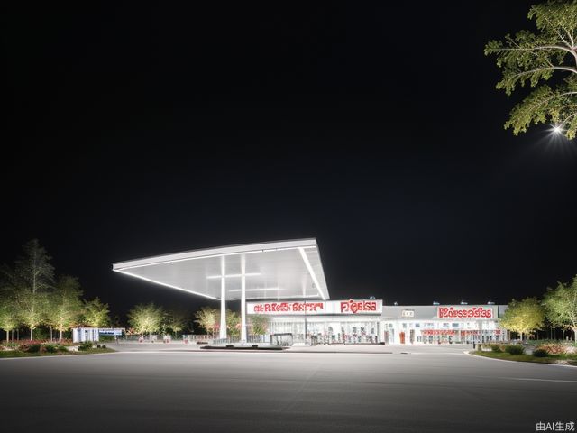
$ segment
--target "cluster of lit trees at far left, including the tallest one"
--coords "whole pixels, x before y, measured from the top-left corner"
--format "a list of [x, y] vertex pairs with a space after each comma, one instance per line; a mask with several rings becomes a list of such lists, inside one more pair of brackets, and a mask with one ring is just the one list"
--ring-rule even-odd
[[30, 330], [30, 339], [38, 327], [54, 330], [62, 340], [72, 327], [104, 327], [110, 321], [108, 304], [95, 298], [82, 298], [76, 277], [56, 275], [51, 257], [37, 239], [23, 245], [14, 264], [0, 268], [0, 329], [6, 339], [14, 339], [20, 327]]

